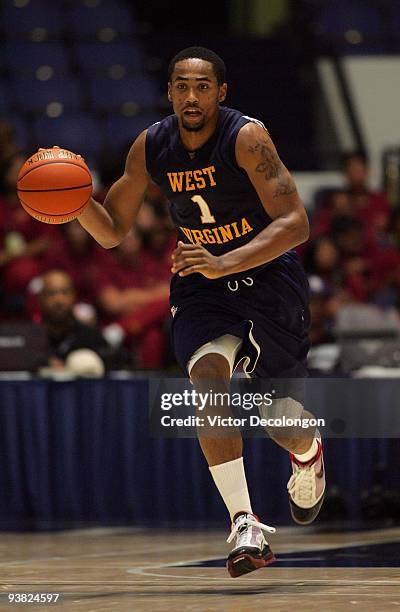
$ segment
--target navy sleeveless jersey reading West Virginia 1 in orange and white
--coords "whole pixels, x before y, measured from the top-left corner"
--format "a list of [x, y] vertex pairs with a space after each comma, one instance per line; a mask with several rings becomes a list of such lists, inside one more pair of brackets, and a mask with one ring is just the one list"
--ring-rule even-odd
[[271, 223], [236, 162], [236, 138], [249, 121], [254, 119], [220, 107], [215, 132], [193, 159], [181, 142], [176, 115], [147, 131], [147, 170], [170, 202], [179, 239], [201, 244], [213, 255], [246, 244]]

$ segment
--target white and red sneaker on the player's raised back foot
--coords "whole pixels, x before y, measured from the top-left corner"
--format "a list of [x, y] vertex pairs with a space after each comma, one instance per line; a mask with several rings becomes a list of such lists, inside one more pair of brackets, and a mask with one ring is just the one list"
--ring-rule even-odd
[[290, 454], [293, 474], [287, 484], [292, 518], [300, 525], [309, 525], [317, 517], [324, 501], [325, 469], [322, 442], [317, 438], [318, 451], [313, 459], [301, 463]]

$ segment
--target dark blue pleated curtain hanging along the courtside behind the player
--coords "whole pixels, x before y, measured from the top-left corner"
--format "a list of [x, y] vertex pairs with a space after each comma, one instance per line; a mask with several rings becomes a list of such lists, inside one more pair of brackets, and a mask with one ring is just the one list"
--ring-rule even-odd
[[[90, 525], [226, 526], [227, 515], [197, 440], [149, 435], [148, 381], [0, 382], [0, 529]], [[398, 441], [326, 440], [328, 484], [346, 518], [374, 466], [399, 488]], [[253, 507], [269, 524], [290, 524], [285, 451], [248, 440]]]

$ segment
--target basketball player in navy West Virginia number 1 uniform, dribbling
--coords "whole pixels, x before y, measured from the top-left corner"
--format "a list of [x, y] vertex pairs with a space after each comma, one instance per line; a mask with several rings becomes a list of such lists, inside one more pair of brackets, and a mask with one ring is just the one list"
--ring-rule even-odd
[[[293, 249], [309, 227], [294, 181], [264, 125], [221, 106], [225, 65], [191, 47], [170, 63], [174, 114], [133, 143], [123, 176], [104, 206], [94, 200], [80, 223], [105, 248], [129, 232], [150, 179], [170, 201], [179, 240], [172, 256], [171, 310], [176, 357], [196, 388], [229, 386], [237, 363], [265, 378], [306, 376], [308, 286]], [[295, 397], [285, 414], [307, 415]], [[276, 432], [275, 432], [276, 433]], [[322, 505], [325, 476], [318, 432], [272, 436], [290, 452], [291, 513], [308, 524]], [[253, 513], [240, 436], [199, 440], [232, 521], [228, 570], [236, 577], [274, 560], [265, 539], [273, 528]]]

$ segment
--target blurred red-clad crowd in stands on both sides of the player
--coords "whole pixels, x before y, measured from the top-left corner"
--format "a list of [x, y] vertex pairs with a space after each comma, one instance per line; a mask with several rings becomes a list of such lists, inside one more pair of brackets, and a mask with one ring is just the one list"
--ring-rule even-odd
[[[114, 351], [105, 359], [109, 367], [174, 364], [168, 292], [175, 232], [157, 186], [150, 187], [126, 240], [104, 250], [78, 221], [46, 225], [23, 210], [16, 179], [26, 155], [13, 145], [5, 122], [0, 140], [1, 319], [48, 323], [43, 295], [49, 279], [61, 279], [73, 304], [58, 331], [53, 321], [53, 363], [67, 332], [79, 324], [80, 334], [88, 334], [81, 326], [102, 331]], [[113, 180], [104, 176], [100, 201]], [[311, 238], [299, 248], [310, 281], [314, 346], [334, 341], [335, 317], [346, 304], [400, 308], [400, 208], [390, 209], [385, 194], [369, 188], [362, 154], [346, 156], [343, 176], [343, 188], [316, 194]]]

